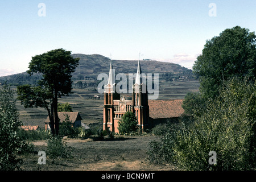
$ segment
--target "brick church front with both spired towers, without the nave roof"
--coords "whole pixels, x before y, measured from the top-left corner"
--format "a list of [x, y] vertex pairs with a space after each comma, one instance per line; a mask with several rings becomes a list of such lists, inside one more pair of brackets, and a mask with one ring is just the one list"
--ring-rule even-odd
[[113, 73], [112, 62], [110, 63], [109, 80], [105, 85], [104, 106], [103, 106], [103, 130], [118, 132], [118, 121], [127, 111], [135, 114], [138, 120], [138, 126], [145, 131], [148, 129], [149, 107], [147, 92], [143, 93], [142, 88], [146, 86], [142, 83], [141, 65], [138, 61], [137, 75], [133, 85], [131, 100], [120, 97], [115, 89], [115, 78]]

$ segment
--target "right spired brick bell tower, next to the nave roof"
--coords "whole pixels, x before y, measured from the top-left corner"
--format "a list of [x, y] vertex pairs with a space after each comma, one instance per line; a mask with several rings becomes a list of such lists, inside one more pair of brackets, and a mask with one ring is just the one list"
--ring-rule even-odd
[[145, 131], [148, 128], [149, 107], [146, 83], [142, 82], [141, 64], [138, 61], [132, 97], [133, 112], [138, 119], [138, 126]]

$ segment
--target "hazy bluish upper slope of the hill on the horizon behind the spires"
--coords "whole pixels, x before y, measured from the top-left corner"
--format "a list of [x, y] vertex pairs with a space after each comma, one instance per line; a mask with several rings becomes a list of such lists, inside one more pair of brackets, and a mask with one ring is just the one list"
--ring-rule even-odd
[[[109, 73], [110, 59], [101, 55], [84, 55], [73, 54], [73, 57], [80, 57], [79, 65], [73, 73], [73, 80], [84, 80], [90, 78], [97, 80], [97, 75], [100, 73]], [[138, 60], [112, 60], [115, 73], [136, 73]], [[181, 67], [179, 64], [165, 63], [160, 61], [142, 60], [141, 68], [143, 73], [159, 73], [160, 78], [164, 77], [163, 73], [171, 73], [172, 76], [192, 77], [191, 70]], [[161, 75], [162, 74], [162, 75]], [[170, 75], [166, 75], [170, 78]], [[42, 76], [34, 74], [29, 76], [28, 73], [18, 73], [10, 76], [0, 77], [0, 82], [7, 81], [11, 85], [36, 84]]]

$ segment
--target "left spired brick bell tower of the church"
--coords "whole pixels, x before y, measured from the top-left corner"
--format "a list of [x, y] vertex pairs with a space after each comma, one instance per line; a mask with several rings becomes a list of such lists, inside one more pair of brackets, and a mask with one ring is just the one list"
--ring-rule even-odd
[[120, 94], [115, 90], [115, 72], [110, 62], [109, 80], [104, 90], [103, 130], [114, 131], [114, 100], [120, 99]]

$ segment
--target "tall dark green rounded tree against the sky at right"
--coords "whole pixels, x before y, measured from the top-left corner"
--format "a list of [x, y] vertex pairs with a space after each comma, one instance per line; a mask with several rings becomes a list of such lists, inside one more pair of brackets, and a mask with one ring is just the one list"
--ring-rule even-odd
[[193, 65], [199, 76], [203, 97], [218, 96], [218, 86], [233, 76], [256, 76], [256, 36], [239, 26], [228, 28], [207, 40], [203, 52]]

